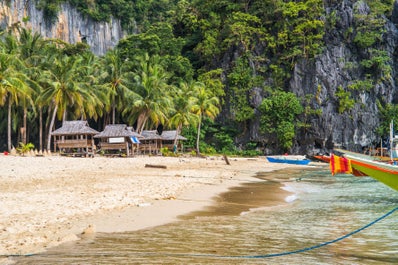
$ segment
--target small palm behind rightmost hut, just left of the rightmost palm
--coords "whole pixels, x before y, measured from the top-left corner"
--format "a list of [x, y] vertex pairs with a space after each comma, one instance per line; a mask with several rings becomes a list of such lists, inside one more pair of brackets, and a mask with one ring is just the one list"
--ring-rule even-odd
[[195, 98], [192, 97], [194, 85], [193, 82], [181, 82], [180, 89], [174, 97], [174, 113], [169, 120], [170, 126], [176, 127], [174, 146], [177, 145], [178, 135], [183, 126], [196, 126], [199, 122], [198, 116], [194, 113]]

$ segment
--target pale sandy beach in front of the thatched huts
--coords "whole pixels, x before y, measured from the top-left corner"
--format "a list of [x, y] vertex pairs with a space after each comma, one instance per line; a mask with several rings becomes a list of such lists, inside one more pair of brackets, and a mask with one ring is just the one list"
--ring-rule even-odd
[[[95, 232], [134, 231], [199, 210], [257, 172], [264, 157], [73, 158], [0, 155], [0, 264]], [[163, 165], [167, 168], [146, 167]]]

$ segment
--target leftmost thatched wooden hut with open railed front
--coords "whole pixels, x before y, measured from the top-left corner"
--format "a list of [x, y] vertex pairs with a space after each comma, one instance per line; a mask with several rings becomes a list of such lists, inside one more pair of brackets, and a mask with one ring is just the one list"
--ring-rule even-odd
[[98, 131], [90, 128], [87, 121], [64, 121], [51, 133], [54, 136], [54, 152], [92, 156], [95, 154], [93, 136]]

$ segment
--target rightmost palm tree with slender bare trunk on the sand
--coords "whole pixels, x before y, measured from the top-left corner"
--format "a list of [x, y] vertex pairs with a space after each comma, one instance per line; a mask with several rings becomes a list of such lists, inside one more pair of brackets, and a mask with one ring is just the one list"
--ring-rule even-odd
[[204, 117], [208, 117], [211, 120], [220, 113], [218, 97], [214, 96], [210, 90], [207, 90], [203, 83], [196, 82], [193, 85], [195, 104], [193, 111], [199, 116], [197, 136], [196, 136], [196, 154], [200, 154], [199, 141], [200, 141], [200, 129], [202, 120]]

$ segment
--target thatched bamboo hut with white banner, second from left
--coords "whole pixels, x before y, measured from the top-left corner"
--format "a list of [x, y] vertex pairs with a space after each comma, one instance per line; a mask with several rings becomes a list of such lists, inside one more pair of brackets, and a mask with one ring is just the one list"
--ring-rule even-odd
[[142, 136], [133, 132], [126, 124], [110, 124], [106, 125], [105, 129], [96, 134], [94, 138], [100, 139], [100, 150], [125, 152], [127, 156], [130, 156], [130, 151], [132, 154], [134, 153], [134, 144], [138, 144], [135, 139], [133, 141], [133, 138], [142, 138]]

